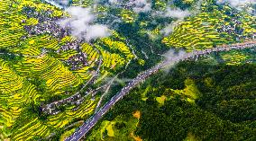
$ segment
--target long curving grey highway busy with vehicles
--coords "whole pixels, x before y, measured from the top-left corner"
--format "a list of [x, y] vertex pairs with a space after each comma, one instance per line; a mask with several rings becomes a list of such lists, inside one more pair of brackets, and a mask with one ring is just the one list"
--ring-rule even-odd
[[110, 101], [106, 102], [100, 110], [98, 110], [91, 118], [87, 119], [87, 121], [81, 127], [79, 127], [70, 137], [68, 137], [66, 141], [78, 141], [82, 137], [84, 137], [87, 132], [96, 125], [98, 119], [101, 119], [105, 115], [105, 112], [111, 109], [117, 101], [120, 101], [123, 96], [129, 93], [137, 84], [142, 83], [147, 77], [157, 73], [160, 69], [176, 64], [179, 61], [184, 61], [190, 58], [196, 58], [200, 56], [206, 56], [212, 52], [229, 51], [231, 49], [252, 48], [255, 46], [256, 41], [247, 41], [244, 43], [224, 45], [217, 48], [207, 48], [205, 50], [184, 53], [180, 56], [172, 57], [168, 60], [162, 61], [160, 64], [140, 73], [129, 84], [126, 84], [119, 93], [116, 93], [114, 97], [112, 97]]

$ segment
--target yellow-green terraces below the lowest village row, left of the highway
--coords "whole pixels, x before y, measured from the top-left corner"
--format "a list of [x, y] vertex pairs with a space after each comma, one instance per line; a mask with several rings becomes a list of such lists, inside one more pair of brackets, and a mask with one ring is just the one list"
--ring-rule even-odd
[[17, 121], [22, 124], [15, 126], [12, 138], [14, 140], [26, 140], [27, 138], [49, 137], [50, 133], [53, 133], [53, 129], [67, 127], [73, 121], [85, 118], [85, 116], [93, 113], [95, 107], [96, 101], [87, 100], [80, 105], [78, 110], [73, 110], [74, 106], [71, 106], [57, 115], [48, 117], [46, 121], [32, 118], [31, 115], [24, 113], [23, 117]]

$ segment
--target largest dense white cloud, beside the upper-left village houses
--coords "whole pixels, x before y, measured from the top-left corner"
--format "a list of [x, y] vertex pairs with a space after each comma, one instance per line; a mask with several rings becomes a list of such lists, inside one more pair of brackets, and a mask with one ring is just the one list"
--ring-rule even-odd
[[94, 23], [96, 15], [91, 8], [71, 6], [66, 11], [71, 17], [62, 19], [59, 25], [63, 28], [70, 28], [72, 35], [87, 41], [110, 36], [106, 25]]

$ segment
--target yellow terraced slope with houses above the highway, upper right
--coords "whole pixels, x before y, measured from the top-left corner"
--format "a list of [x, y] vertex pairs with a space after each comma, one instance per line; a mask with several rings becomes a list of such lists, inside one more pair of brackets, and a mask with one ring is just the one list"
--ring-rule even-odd
[[202, 50], [250, 39], [256, 32], [255, 17], [249, 14], [237, 13], [229, 6], [220, 8], [211, 5], [211, 10], [203, 10], [203, 13], [179, 22], [162, 42], [169, 47], [186, 48], [187, 51]]

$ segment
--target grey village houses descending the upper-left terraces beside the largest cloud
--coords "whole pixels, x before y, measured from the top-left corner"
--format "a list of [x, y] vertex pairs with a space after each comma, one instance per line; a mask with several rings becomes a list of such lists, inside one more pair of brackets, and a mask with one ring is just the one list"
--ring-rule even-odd
[[[29, 35], [40, 35], [47, 33], [61, 40], [64, 37], [69, 36], [71, 34], [69, 29], [64, 29], [59, 26], [59, 24], [56, 22], [56, 20], [58, 19], [50, 17], [50, 14], [52, 13], [50, 10], [46, 11], [45, 13], [38, 13], [32, 7], [25, 7], [23, 9], [23, 13], [25, 13], [30, 18], [33, 17], [39, 19], [39, 23], [36, 25], [24, 26], [24, 29], [29, 33]], [[69, 59], [66, 61], [66, 64], [70, 66], [71, 70], [78, 70], [79, 68], [88, 65], [87, 54], [80, 51], [79, 44], [81, 43], [81, 41], [82, 40], [74, 40], [71, 42], [67, 42], [65, 45], [62, 45], [56, 51], [56, 53], [58, 54], [60, 52], [67, 51], [70, 49], [78, 51], [77, 55], [69, 57]]]

